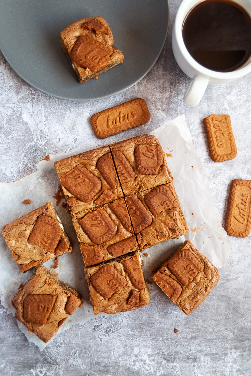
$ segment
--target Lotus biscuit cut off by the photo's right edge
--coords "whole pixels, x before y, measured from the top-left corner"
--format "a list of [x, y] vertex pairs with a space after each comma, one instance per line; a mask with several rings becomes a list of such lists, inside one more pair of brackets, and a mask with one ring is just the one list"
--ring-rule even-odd
[[251, 180], [234, 179], [228, 199], [225, 230], [230, 236], [245, 238], [251, 230]]

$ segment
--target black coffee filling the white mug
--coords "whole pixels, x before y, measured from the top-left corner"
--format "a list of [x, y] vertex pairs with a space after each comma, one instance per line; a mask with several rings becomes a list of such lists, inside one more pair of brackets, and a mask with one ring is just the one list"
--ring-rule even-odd
[[206, 0], [189, 11], [182, 35], [190, 55], [219, 72], [242, 66], [251, 55], [251, 18], [229, 0]]

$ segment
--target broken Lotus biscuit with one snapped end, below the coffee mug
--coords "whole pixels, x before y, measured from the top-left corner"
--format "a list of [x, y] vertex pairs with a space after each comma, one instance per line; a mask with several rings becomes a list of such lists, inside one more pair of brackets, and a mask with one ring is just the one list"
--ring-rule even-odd
[[236, 157], [237, 149], [229, 115], [212, 114], [204, 119], [211, 157], [215, 162]]

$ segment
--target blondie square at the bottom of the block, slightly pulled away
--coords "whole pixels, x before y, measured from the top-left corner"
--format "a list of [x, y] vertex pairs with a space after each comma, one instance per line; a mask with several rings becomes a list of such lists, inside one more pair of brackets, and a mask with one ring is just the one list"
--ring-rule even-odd
[[149, 304], [138, 252], [84, 269], [95, 315], [132, 311]]

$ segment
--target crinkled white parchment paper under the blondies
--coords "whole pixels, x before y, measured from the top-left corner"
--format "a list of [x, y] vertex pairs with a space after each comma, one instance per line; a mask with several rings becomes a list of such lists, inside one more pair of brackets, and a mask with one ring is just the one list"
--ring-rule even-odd
[[[180, 238], [156, 244], [144, 252], [142, 258], [146, 279], [150, 281], [152, 269], [164, 261], [186, 239], [189, 239], [216, 267], [221, 267], [227, 260], [231, 244], [225, 230], [221, 226], [219, 213], [210, 195], [209, 183], [192, 144], [192, 138], [186, 126], [184, 115], [177, 117], [173, 121], [168, 121], [162, 127], [152, 132], [152, 134], [159, 139], [167, 157], [167, 164], [174, 178], [174, 186], [185, 215], [189, 233]], [[53, 196], [58, 190], [59, 179], [54, 170], [54, 161], [86, 150], [74, 150], [68, 154], [50, 156], [50, 161], [39, 162], [37, 164], [38, 171], [29, 176], [13, 183], [0, 183], [0, 197], [2, 199], [0, 227], [2, 228], [4, 224], [44, 205], [47, 201], [51, 201], [56, 205], [56, 200]], [[26, 199], [31, 200], [30, 205], [22, 203]], [[66, 320], [57, 332], [59, 334], [73, 324], [86, 322], [94, 317], [94, 314], [92, 306], [89, 303], [89, 293], [83, 271], [84, 263], [71, 223], [71, 217], [62, 205], [59, 204], [55, 207], [71, 239], [73, 252], [60, 256], [59, 266], [55, 271], [51, 269], [53, 260], [45, 262], [44, 265], [53, 272], [58, 273], [59, 279], [72, 285], [83, 296], [82, 308], [78, 308]], [[2, 234], [0, 235], [0, 256], [2, 304], [8, 308], [8, 311], [15, 314], [15, 308], [11, 304], [11, 299], [16, 294], [18, 287], [21, 284], [25, 284], [33, 272], [20, 272], [17, 263], [12, 258], [10, 250], [6, 246]], [[158, 291], [158, 287], [154, 283], [150, 284], [149, 287], [152, 294]], [[46, 346], [44, 342], [39, 340], [35, 334], [30, 334], [19, 321], [18, 325], [29, 341], [37, 344], [40, 349], [44, 349]]]

